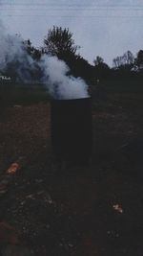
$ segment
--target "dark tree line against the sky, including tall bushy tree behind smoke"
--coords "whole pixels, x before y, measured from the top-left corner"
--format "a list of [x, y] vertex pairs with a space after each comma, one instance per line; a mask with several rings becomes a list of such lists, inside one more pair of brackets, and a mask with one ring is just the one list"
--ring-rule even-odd
[[[30, 39], [24, 41], [24, 45], [31, 58], [37, 61], [43, 55], [55, 56], [64, 60], [70, 67], [69, 75], [81, 77], [89, 84], [99, 80], [143, 77], [143, 50], [139, 50], [136, 57], [131, 51], [127, 51], [122, 56], [113, 58], [112, 68], [100, 56], [94, 58], [93, 64], [90, 64], [78, 53], [80, 46], [75, 44], [72, 33], [67, 28], [53, 26], [45, 36], [44, 45], [40, 49], [32, 46]], [[6, 73], [9, 71], [10, 66]]]

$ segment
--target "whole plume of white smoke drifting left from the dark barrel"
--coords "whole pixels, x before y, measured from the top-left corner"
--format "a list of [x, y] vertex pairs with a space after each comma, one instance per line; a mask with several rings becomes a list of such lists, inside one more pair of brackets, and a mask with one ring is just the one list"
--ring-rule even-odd
[[[86, 98], [88, 85], [81, 78], [68, 76], [69, 67], [56, 57], [43, 55], [40, 61], [28, 54], [23, 39], [18, 35], [9, 35], [0, 21], [0, 72], [5, 72], [11, 63], [16, 71], [17, 80], [31, 82], [31, 74], [42, 71], [42, 78], [53, 98]], [[14, 65], [14, 67], [13, 67]]]

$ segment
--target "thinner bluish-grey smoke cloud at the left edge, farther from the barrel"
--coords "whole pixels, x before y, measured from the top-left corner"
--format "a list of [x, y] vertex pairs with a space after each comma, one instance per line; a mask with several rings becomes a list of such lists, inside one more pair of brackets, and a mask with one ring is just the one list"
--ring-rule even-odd
[[0, 21], [0, 72], [10, 72], [16, 81], [31, 82], [31, 74], [38, 70], [37, 62], [31, 58], [20, 35], [8, 34]]

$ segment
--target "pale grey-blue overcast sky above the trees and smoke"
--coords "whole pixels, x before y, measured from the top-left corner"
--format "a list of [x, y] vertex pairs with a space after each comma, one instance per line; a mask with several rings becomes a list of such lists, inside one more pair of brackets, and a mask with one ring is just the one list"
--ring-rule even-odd
[[53, 26], [69, 28], [79, 53], [90, 63], [143, 49], [142, 0], [0, 0], [0, 20], [10, 34], [44, 45]]

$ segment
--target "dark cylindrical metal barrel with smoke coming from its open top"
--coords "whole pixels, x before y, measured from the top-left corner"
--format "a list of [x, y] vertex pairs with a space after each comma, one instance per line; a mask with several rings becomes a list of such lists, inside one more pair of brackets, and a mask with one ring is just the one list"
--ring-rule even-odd
[[92, 99], [51, 101], [51, 142], [57, 158], [88, 160], [92, 154]]

